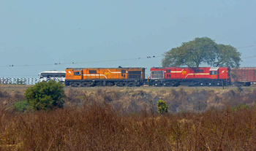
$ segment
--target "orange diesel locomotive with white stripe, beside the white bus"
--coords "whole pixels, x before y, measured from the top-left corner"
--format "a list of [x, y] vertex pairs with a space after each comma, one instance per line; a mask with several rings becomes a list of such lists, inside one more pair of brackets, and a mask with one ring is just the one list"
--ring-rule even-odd
[[141, 86], [144, 80], [145, 68], [67, 68], [65, 85], [72, 87]]

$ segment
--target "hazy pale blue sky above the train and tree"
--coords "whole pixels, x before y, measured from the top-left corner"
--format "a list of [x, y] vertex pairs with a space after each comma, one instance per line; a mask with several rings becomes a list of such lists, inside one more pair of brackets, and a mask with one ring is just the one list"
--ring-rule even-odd
[[255, 6], [255, 0], [1, 0], [0, 77], [118, 66], [144, 67], [148, 76], [165, 52], [205, 36], [237, 47], [241, 66], [256, 66]]

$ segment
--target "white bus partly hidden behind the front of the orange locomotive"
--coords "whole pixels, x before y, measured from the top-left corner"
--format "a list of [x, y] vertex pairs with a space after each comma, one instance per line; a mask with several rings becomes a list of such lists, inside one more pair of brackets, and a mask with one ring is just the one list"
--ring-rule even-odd
[[66, 71], [42, 71], [39, 74], [39, 81], [38, 82], [42, 82], [42, 81], [46, 81], [48, 82], [49, 80], [54, 80], [56, 82], [61, 82], [61, 83], [65, 83], [66, 80]]

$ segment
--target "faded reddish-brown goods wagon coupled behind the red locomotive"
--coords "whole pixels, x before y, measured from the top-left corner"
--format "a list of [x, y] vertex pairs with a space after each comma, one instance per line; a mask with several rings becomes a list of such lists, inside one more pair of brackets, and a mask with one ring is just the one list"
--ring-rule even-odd
[[256, 67], [233, 68], [231, 72], [231, 82], [235, 84], [250, 86], [256, 82]]

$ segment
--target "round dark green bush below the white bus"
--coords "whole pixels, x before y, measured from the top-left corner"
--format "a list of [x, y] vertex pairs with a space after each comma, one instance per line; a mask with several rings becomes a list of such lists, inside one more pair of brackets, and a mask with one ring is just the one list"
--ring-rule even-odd
[[64, 96], [64, 86], [54, 80], [39, 82], [25, 92], [26, 100], [35, 110], [61, 108]]

